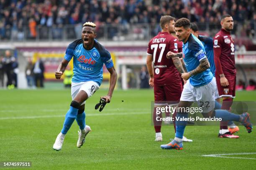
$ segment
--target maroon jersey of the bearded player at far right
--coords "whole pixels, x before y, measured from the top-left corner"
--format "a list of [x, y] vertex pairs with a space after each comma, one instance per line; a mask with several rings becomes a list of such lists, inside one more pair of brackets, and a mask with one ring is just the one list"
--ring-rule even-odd
[[222, 73], [224, 73], [224, 75], [236, 74], [235, 45], [230, 32], [221, 29], [215, 35], [213, 40], [213, 50], [216, 67], [215, 75], [220, 75]]

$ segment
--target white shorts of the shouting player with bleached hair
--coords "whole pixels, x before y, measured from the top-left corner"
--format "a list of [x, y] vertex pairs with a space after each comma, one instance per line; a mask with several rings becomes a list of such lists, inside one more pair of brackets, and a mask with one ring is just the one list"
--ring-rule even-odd
[[[72, 82], [71, 83], [71, 96], [72, 100], [74, 100], [74, 97], [78, 94], [80, 90], [83, 90], [87, 93], [88, 98], [90, 98], [96, 90], [98, 90], [100, 86], [97, 84], [97, 82], [94, 81], [87, 81], [87, 82]], [[82, 102], [81, 105], [85, 103]]]

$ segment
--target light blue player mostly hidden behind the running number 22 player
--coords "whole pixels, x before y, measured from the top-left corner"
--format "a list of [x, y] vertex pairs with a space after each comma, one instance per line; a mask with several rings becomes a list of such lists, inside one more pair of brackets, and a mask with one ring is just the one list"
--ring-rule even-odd
[[[195, 23], [191, 23], [190, 31], [193, 35], [195, 35], [195, 37], [198, 38], [198, 40], [200, 40], [202, 42], [202, 45], [204, 45], [205, 52], [206, 52], [206, 55], [207, 55], [207, 59], [210, 63], [210, 68], [209, 69], [212, 72], [213, 79], [216, 81], [216, 78], [215, 78], [215, 63], [214, 63], [214, 55], [213, 55], [213, 39], [211, 37], [198, 35], [198, 27]], [[226, 102], [223, 101], [223, 105], [220, 104], [220, 95], [219, 95], [217, 86], [215, 88], [214, 95], [215, 95], [214, 110], [225, 109], [226, 108], [225, 107]], [[228, 101], [228, 102], [230, 102], [230, 101]], [[229, 110], [229, 106], [230, 105], [228, 104], [228, 108], [225, 109], [225, 110]], [[229, 129], [224, 128], [225, 126], [220, 126], [220, 131], [219, 131], [218, 137], [220, 137], [220, 138], [239, 138], [238, 135], [233, 135], [233, 133], [236, 133], [239, 130], [238, 126], [236, 126], [236, 124], [232, 121], [229, 121], [228, 125], [230, 127]]]

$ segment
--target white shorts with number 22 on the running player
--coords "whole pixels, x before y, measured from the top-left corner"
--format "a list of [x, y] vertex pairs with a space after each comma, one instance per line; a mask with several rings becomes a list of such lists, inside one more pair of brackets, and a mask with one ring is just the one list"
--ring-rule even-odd
[[189, 80], [184, 85], [180, 101], [197, 102], [204, 113], [210, 112], [215, 107], [216, 80], [212, 79], [207, 85], [194, 87]]

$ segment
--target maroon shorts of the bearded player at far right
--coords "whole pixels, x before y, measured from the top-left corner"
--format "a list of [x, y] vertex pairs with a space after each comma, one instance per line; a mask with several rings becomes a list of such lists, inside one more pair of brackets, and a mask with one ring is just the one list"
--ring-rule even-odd
[[236, 97], [236, 75], [225, 75], [228, 79], [228, 86], [220, 85], [220, 76], [216, 76], [216, 84], [220, 97]]

